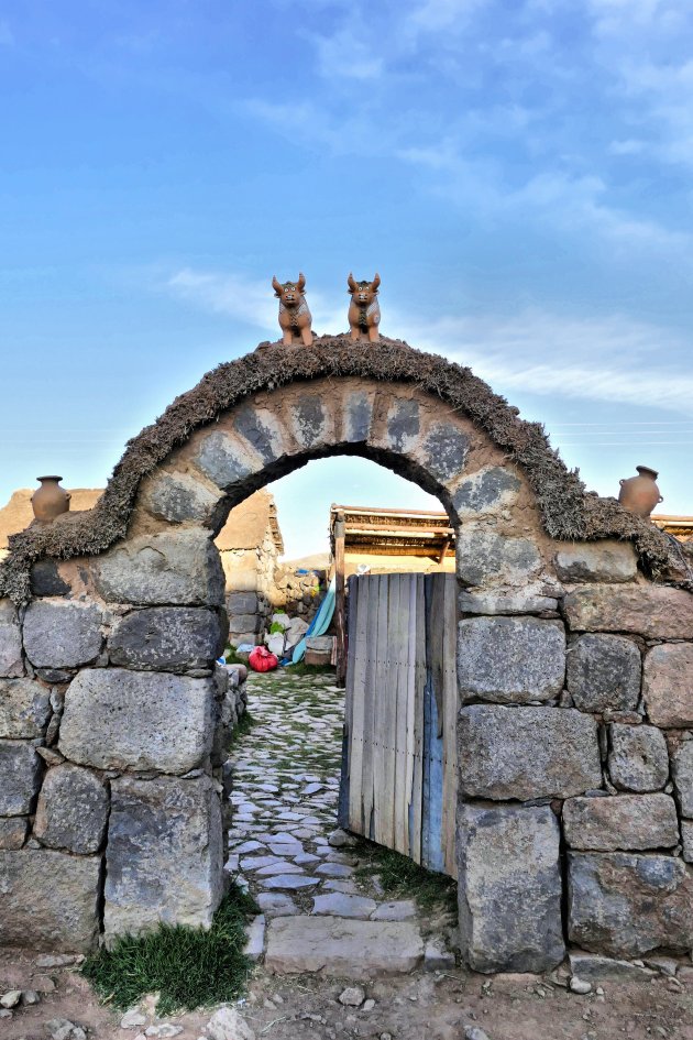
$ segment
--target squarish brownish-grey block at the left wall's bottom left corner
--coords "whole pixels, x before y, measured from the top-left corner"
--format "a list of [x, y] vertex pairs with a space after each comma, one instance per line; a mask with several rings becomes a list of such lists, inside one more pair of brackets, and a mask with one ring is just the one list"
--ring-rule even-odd
[[87, 952], [99, 937], [100, 856], [0, 852], [0, 935], [32, 950]]

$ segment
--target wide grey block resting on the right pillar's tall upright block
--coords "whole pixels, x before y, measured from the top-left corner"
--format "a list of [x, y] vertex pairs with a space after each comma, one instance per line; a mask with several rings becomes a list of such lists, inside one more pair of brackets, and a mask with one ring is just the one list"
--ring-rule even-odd
[[470, 704], [460, 712], [458, 758], [472, 798], [568, 798], [602, 786], [596, 722], [572, 708]]

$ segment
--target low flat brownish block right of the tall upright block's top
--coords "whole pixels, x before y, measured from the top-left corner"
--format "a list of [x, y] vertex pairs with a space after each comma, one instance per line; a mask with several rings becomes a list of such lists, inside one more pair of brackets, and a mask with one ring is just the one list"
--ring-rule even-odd
[[669, 795], [569, 798], [563, 829], [572, 849], [595, 852], [666, 849], [679, 841], [676, 807]]

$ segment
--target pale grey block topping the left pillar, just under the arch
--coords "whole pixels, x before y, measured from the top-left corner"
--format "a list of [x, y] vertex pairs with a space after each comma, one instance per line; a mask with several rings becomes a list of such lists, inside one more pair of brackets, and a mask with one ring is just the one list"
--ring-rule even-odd
[[108, 602], [223, 606], [223, 568], [202, 528], [121, 541], [96, 560], [95, 580]]

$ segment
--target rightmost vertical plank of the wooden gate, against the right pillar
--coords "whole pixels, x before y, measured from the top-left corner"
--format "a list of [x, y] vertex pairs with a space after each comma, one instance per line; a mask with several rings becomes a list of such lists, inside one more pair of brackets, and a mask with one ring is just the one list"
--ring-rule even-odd
[[443, 869], [458, 876], [455, 849], [458, 803], [458, 589], [454, 574], [444, 576], [443, 603]]

